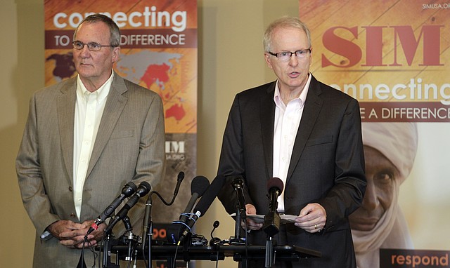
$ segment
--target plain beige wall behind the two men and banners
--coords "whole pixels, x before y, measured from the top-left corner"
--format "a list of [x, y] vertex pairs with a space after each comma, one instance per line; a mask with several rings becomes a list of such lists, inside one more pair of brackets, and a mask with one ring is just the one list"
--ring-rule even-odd
[[[198, 0], [198, 174], [217, 170], [221, 135], [233, 97], [274, 79], [264, 65], [262, 33], [271, 20], [297, 15], [298, 0]], [[31, 267], [34, 227], [25, 213], [15, 176], [15, 154], [32, 92], [44, 86], [44, 0], [2, 0], [0, 8], [0, 267]], [[222, 239], [234, 224], [214, 201], [197, 232]], [[232, 260], [219, 267], [233, 267]], [[200, 267], [215, 267], [200, 262]]]

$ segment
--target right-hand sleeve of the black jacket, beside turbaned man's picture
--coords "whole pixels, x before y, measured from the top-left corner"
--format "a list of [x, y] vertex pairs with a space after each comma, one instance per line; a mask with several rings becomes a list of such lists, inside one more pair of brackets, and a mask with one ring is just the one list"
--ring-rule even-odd
[[319, 203], [326, 209], [327, 229], [361, 206], [366, 190], [364, 149], [359, 104], [352, 100], [345, 110], [335, 154], [335, 185]]

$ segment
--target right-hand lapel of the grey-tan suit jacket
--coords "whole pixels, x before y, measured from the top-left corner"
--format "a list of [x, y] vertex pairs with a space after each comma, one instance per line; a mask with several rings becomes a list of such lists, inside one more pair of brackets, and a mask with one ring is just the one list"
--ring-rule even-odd
[[110, 140], [111, 134], [115, 128], [117, 120], [120, 118], [122, 111], [127, 104], [127, 97], [122, 95], [127, 91], [124, 80], [118, 74], [114, 74], [114, 80], [111, 84], [110, 93], [106, 100], [105, 109], [101, 117], [100, 126], [98, 126], [98, 132], [94, 148], [92, 149], [91, 160], [86, 173], [86, 178], [92, 172], [92, 169], [96, 165], [96, 162], [101, 156], [103, 149], [105, 148], [108, 140]]

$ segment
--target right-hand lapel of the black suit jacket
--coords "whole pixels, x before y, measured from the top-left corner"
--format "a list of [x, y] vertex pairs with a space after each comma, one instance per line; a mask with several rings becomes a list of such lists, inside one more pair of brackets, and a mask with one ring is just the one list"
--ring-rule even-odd
[[319, 82], [313, 76], [311, 78], [311, 83], [309, 84], [307, 100], [304, 103], [302, 120], [300, 121], [297, 135], [295, 136], [293, 154], [290, 157], [288, 177], [286, 178], [286, 182], [290, 180], [290, 177], [294, 173], [295, 167], [300, 160], [300, 156], [302, 156], [304, 146], [306, 145], [309, 135], [314, 128], [317, 116], [319, 116], [319, 112], [321, 111], [323, 100], [319, 97], [320, 94], [321, 88], [319, 86]]

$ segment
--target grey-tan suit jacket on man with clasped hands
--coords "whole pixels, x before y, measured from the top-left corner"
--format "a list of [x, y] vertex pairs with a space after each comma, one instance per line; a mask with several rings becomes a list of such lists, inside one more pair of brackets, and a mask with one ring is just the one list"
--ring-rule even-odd
[[[76, 267], [81, 251], [39, 236], [57, 220], [94, 220], [120, 195], [125, 183], [155, 187], [164, 175], [165, 125], [162, 101], [153, 91], [115, 74], [105, 104], [83, 188], [82, 215], [73, 201], [73, 144], [77, 78], [34, 93], [16, 159], [23, 203], [36, 227], [34, 267]], [[134, 232], [143, 206], [129, 211]], [[120, 229], [122, 228], [122, 229]], [[113, 230], [123, 234], [122, 224]], [[93, 262], [86, 250], [86, 264]]]

